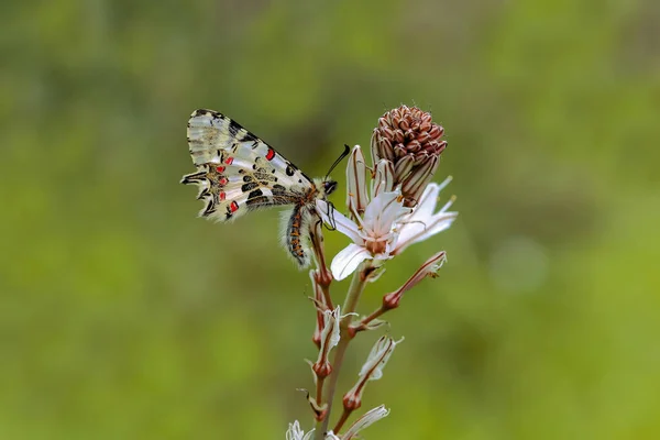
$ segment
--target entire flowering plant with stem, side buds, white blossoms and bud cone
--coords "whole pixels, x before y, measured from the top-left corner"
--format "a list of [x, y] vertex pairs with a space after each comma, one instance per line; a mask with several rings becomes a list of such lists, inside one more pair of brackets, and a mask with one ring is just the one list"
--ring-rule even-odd
[[[383, 296], [382, 306], [363, 318], [356, 318], [358, 302], [366, 283], [375, 282], [381, 267], [398, 256], [409, 245], [425, 241], [448, 229], [458, 216], [450, 211], [453, 197], [438, 207], [441, 184], [431, 183], [440, 155], [447, 147], [441, 138], [444, 130], [431, 116], [417, 108], [402, 106], [378, 119], [371, 142], [372, 163], [367, 166], [362, 148], [356, 145], [346, 167], [346, 215], [326, 200], [318, 200], [320, 219], [351, 240], [326, 267], [320, 223], [312, 241], [318, 267], [310, 272], [315, 289], [317, 327], [312, 340], [319, 349], [316, 362], [308, 361], [316, 392], [307, 393], [316, 428], [307, 433], [298, 421], [289, 425], [287, 440], [350, 440], [359, 431], [386, 417], [389, 410], [381, 405], [359, 417], [345, 431], [342, 428], [353, 411], [362, 406], [366, 384], [382, 377], [383, 369], [396, 345], [388, 336], [381, 337], [364, 362], [358, 381], [342, 398], [343, 411], [329, 429], [329, 418], [339, 371], [350, 341], [365, 330], [377, 329], [380, 318], [399, 306], [403, 295], [427, 277], [437, 277], [447, 254], [439, 251], [424, 262], [398, 289]], [[330, 284], [353, 275], [343, 306], [334, 306]]]

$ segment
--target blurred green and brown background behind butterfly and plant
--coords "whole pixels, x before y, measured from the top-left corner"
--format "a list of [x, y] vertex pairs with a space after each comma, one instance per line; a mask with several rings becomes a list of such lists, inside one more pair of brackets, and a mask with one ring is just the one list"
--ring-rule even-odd
[[461, 216], [365, 294], [447, 250], [388, 317], [406, 341], [365, 438], [660, 438], [659, 22], [634, 0], [3, 2], [0, 438], [310, 428], [308, 276], [277, 210], [196, 219], [186, 121], [222, 111], [322, 175], [400, 103], [446, 128]]

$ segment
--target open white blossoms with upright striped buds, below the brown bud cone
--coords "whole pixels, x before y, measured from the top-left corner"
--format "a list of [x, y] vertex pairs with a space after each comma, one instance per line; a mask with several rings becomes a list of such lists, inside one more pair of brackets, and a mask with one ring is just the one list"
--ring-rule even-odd
[[351, 275], [365, 260], [380, 262], [392, 258], [410, 244], [446, 230], [458, 216], [458, 212], [447, 211], [453, 200], [433, 212], [440, 190], [451, 178], [441, 185], [429, 184], [419, 204], [415, 208], [406, 208], [400, 188], [392, 188], [394, 168], [388, 161], [381, 160], [376, 164], [371, 201], [366, 196], [365, 174], [366, 166], [356, 145], [346, 169], [348, 207], [354, 221], [331, 210], [324, 200], [317, 201], [317, 212], [323, 221], [353, 241], [330, 264], [336, 279]]

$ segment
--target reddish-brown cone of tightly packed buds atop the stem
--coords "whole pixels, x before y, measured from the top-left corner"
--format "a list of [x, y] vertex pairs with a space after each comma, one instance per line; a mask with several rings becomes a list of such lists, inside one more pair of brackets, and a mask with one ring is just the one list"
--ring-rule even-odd
[[374, 164], [385, 158], [394, 165], [394, 186], [402, 186], [405, 206], [414, 207], [447, 147], [441, 140], [444, 129], [431, 120], [431, 113], [400, 106], [378, 119], [372, 134]]

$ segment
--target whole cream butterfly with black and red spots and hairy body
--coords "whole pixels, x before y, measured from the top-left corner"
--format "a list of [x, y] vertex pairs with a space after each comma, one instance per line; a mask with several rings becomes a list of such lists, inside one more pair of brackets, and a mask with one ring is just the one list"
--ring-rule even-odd
[[197, 199], [205, 202], [199, 216], [228, 222], [261, 208], [290, 206], [290, 216], [283, 216], [283, 244], [300, 268], [307, 267], [309, 229], [318, 219], [316, 200], [332, 194], [337, 182], [307, 177], [272, 146], [213, 110], [190, 114], [188, 146], [197, 170], [185, 175], [182, 184], [198, 186]]

